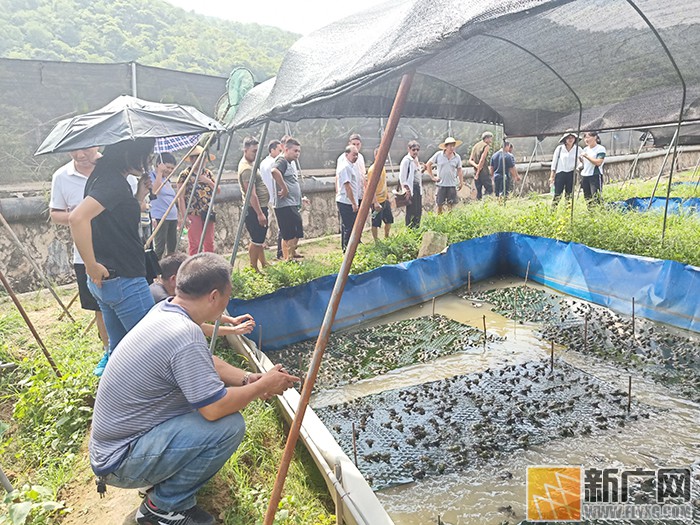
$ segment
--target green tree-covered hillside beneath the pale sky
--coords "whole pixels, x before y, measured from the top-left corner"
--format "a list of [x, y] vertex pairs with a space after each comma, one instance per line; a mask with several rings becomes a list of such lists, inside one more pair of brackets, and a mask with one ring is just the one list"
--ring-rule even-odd
[[129, 62], [228, 76], [273, 76], [299, 35], [197, 15], [162, 0], [0, 0], [0, 56]]

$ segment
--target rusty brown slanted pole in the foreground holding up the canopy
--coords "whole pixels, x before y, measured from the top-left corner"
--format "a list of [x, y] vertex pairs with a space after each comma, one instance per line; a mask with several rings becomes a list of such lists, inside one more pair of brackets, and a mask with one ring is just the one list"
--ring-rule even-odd
[[[394, 99], [394, 105], [391, 108], [391, 114], [389, 115], [389, 120], [387, 121], [386, 131], [379, 143], [379, 151], [377, 152], [377, 157], [374, 159], [376, 166], [383, 166], [386, 162], [387, 154], [389, 153], [389, 147], [392, 140], [394, 139], [394, 134], [396, 133], [396, 127], [398, 126], [399, 120], [401, 119], [401, 112], [403, 110], [404, 104], [408, 97], [408, 92], [411, 89], [411, 83], [413, 82], [413, 77], [415, 75], [415, 70], [411, 70], [404, 74], [401, 78], [401, 84], [396, 92], [396, 98]], [[374, 195], [377, 190], [377, 185], [379, 184], [379, 177], [381, 176], [381, 169], [375, 169], [372, 172], [372, 177], [370, 178], [367, 185], [367, 195]], [[301, 430], [301, 424], [304, 420], [304, 413], [306, 412], [306, 407], [309, 404], [309, 399], [311, 398], [311, 392], [314, 389], [314, 384], [316, 383], [316, 377], [318, 375], [319, 368], [321, 367], [321, 360], [323, 359], [323, 353], [326, 350], [326, 345], [328, 344], [328, 339], [331, 335], [331, 328], [333, 327], [333, 321], [335, 320], [336, 313], [338, 312], [338, 306], [340, 304], [340, 299], [343, 296], [343, 290], [345, 284], [348, 280], [348, 275], [350, 274], [350, 267], [352, 265], [353, 258], [355, 257], [355, 252], [357, 251], [357, 246], [360, 243], [360, 238], [362, 237], [362, 230], [365, 222], [367, 221], [367, 215], [369, 214], [369, 208], [372, 204], [372, 199], [362, 199], [362, 204], [357, 212], [357, 219], [352, 228], [352, 233], [350, 234], [350, 240], [343, 257], [343, 262], [340, 265], [340, 270], [335, 279], [335, 284], [333, 285], [333, 291], [331, 292], [331, 297], [328, 301], [328, 306], [326, 308], [326, 313], [323, 318], [323, 324], [318, 334], [318, 339], [316, 340], [316, 347], [314, 348], [313, 356], [311, 357], [311, 362], [309, 363], [309, 371], [306, 377], [306, 383], [301, 392], [301, 397], [299, 399], [299, 405], [294, 414], [294, 419], [292, 420], [292, 425], [289, 430], [289, 435], [287, 436], [287, 443], [284, 447], [284, 454], [282, 456], [282, 461], [280, 463], [279, 469], [277, 470], [277, 478], [275, 479], [275, 485], [270, 496], [270, 502], [265, 513], [265, 519], [263, 521], [264, 525], [272, 525], [275, 519], [275, 514], [277, 513], [277, 508], [279, 502], [282, 499], [282, 489], [284, 488], [284, 482], [289, 472], [289, 465], [292, 461], [292, 456], [294, 455], [294, 448], [299, 440], [299, 432]]]

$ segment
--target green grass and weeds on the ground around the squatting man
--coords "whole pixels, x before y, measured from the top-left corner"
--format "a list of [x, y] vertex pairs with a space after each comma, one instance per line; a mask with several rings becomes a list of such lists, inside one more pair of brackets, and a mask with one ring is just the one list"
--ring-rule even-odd
[[[71, 291], [62, 293], [65, 301]], [[63, 377], [55, 376], [19, 312], [3, 298], [0, 361], [18, 366], [0, 372], [0, 457], [18, 490], [0, 500], [0, 524], [57, 524], [71, 506], [60, 502], [62, 489], [85, 475], [80, 469], [89, 468], [85, 442], [97, 387], [92, 369], [101, 344], [94, 328], [84, 334], [90, 317], [81, 310], [73, 309], [75, 323], [59, 322], [58, 306], [48, 293], [25, 294], [20, 300]], [[246, 367], [223, 344], [216, 353]], [[205, 504], [223, 513], [226, 525], [261, 520], [260, 508], [269, 499], [286, 440], [272, 402], [253, 403], [243, 415], [248, 430], [241, 448], [203, 490]], [[297, 451], [284, 494], [278, 523], [335, 522], [325, 485], [304, 449]]]

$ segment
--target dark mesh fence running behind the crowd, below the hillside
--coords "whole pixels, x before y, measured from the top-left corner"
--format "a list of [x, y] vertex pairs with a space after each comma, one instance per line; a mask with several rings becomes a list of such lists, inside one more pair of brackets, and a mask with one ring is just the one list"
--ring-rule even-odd
[[[61, 119], [95, 110], [119, 95], [135, 95], [146, 100], [188, 104], [214, 115], [216, 103], [226, 92], [226, 78], [187, 73], [138, 63], [90, 64], [18, 60], [0, 58], [0, 186], [22, 189], [28, 183], [46, 183], [68, 156], [34, 157], [39, 144]], [[493, 125], [428, 119], [403, 119], [390, 156], [397, 165], [409, 140], [422, 145], [421, 160], [426, 161], [448, 135], [464, 141], [458, 153], [464, 158], [482, 131], [490, 129], [496, 139], [502, 130]], [[258, 130], [244, 130], [257, 134]], [[363, 137], [367, 162], [379, 144], [382, 121], [376, 118], [304, 120], [272, 123], [269, 137], [279, 138], [291, 132], [302, 143], [301, 163], [305, 168], [331, 168], [347, 144], [350, 133]], [[634, 152], [639, 133], [615, 132], [602, 135], [611, 154]], [[556, 138], [538, 142], [534, 137], [515, 139], [518, 161], [551, 158]], [[232, 154], [226, 168], [235, 170], [241, 157], [243, 134], [233, 137]], [[498, 141], [496, 142], [498, 144]], [[535, 147], [535, 144], [538, 147]], [[219, 147], [214, 145], [214, 150]], [[425, 157], [425, 158], [423, 158]], [[41, 186], [41, 185], [40, 185]]]

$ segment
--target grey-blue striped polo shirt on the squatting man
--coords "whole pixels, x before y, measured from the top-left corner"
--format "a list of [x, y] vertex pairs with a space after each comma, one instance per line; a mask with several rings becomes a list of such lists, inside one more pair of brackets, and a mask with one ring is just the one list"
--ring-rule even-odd
[[113, 472], [153, 427], [226, 395], [202, 329], [170, 301], [124, 336], [100, 379], [89, 446], [98, 476]]

